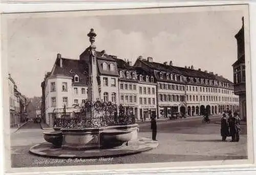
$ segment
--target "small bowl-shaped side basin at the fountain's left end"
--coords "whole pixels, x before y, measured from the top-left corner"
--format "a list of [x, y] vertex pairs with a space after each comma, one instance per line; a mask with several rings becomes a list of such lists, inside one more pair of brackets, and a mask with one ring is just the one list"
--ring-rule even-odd
[[45, 131], [43, 133], [44, 139], [47, 142], [50, 142], [54, 145], [54, 147], [61, 147], [62, 145], [62, 132], [61, 131]]

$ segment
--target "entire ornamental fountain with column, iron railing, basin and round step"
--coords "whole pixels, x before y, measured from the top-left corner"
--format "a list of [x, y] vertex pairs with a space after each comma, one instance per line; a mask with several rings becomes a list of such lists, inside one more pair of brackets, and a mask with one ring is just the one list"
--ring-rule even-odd
[[30, 153], [58, 158], [97, 158], [140, 153], [157, 147], [157, 141], [138, 137], [139, 125], [135, 116], [125, 113], [122, 105], [98, 100], [100, 92], [94, 45], [97, 35], [91, 29], [88, 36], [91, 42], [86, 49], [89, 100], [75, 117], [67, 116], [64, 106], [61, 117], [55, 118], [53, 128], [43, 132], [47, 142], [32, 146]]

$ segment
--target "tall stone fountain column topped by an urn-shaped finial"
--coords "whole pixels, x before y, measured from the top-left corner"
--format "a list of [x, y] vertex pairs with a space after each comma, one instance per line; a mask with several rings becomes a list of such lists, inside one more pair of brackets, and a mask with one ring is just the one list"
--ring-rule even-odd
[[[99, 87], [97, 83], [97, 61], [96, 61], [96, 46], [94, 45], [95, 37], [97, 34], [93, 29], [87, 35], [90, 38], [91, 45], [89, 47], [89, 86], [88, 86], [88, 99], [90, 102], [96, 102], [99, 100]], [[94, 117], [94, 108], [90, 110], [90, 117]]]

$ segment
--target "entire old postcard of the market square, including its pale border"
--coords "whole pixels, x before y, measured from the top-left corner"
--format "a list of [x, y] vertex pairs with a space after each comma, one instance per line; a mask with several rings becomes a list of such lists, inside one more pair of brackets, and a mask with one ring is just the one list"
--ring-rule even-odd
[[251, 163], [248, 11], [2, 14], [6, 166]]

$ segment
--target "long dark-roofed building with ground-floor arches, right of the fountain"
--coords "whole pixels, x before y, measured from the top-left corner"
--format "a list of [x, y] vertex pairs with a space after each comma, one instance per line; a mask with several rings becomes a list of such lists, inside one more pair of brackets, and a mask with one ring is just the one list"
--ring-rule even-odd
[[195, 116], [238, 109], [233, 83], [218, 74], [196, 70], [194, 66], [173, 66], [172, 61], [157, 63], [153, 58], [140, 57], [134, 66], [154, 74], [159, 117], [168, 117], [173, 112]]

